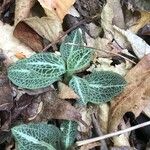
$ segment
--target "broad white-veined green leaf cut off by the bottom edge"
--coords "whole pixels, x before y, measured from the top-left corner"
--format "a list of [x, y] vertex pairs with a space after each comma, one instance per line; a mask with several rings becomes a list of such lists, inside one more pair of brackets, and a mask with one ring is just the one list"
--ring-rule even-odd
[[60, 130], [46, 123], [22, 124], [12, 128], [17, 150], [58, 150]]

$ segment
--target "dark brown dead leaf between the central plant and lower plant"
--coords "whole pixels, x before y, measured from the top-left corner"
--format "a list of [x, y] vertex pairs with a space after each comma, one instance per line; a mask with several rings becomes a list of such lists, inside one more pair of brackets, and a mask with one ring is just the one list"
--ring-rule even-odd
[[41, 96], [43, 109], [35, 118], [35, 121], [47, 121], [49, 119], [65, 119], [81, 121], [78, 110], [69, 102], [57, 97], [55, 91], [46, 92]]

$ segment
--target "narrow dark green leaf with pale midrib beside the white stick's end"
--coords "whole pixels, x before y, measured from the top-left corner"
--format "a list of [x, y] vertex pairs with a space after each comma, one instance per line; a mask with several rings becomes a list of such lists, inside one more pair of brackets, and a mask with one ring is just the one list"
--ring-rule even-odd
[[78, 123], [75, 121], [65, 120], [61, 124], [62, 143], [65, 149], [68, 149], [75, 141]]

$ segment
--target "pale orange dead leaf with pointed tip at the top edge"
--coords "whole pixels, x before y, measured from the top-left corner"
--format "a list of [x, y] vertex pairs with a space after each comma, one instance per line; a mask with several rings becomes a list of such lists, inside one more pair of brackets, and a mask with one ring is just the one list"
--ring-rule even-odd
[[75, 0], [38, 0], [42, 7], [55, 12], [57, 16], [63, 20], [68, 13], [70, 7], [75, 3]]

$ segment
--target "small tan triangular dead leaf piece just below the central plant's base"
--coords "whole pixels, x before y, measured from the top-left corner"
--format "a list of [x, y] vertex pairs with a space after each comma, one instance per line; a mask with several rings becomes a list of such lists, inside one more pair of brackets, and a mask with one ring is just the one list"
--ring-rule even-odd
[[58, 97], [61, 99], [79, 99], [79, 96], [66, 84], [58, 82]]

